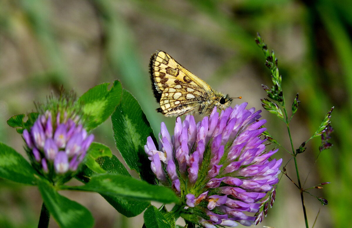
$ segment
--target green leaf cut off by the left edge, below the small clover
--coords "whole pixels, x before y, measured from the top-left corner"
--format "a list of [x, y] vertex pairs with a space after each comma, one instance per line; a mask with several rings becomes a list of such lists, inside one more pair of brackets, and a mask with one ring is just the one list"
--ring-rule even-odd
[[0, 177], [23, 184], [35, 185], [38, 173], [13, 148], [0, 142]]

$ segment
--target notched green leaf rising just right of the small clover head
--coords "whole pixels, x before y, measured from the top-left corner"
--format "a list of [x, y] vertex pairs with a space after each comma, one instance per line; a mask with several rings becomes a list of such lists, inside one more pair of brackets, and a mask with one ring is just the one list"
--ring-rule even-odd
[[120, 103], [122, 86], [115, 80], [111, 89], [108, 90], [110, 83], [103, 83], [89, 89], [78, 101], [82, 103], [82, 111], [87, 120], [87, 131], [104, 122], [115, 107]]

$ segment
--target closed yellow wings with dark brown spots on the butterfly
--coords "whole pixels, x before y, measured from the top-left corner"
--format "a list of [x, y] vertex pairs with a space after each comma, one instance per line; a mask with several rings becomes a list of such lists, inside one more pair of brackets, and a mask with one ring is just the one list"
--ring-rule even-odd
[[182, 115], [193, 110], [199, 100], [212, 92], [206, 82], [163, 51], [154, 53], [150, 70], [152, 86], [156, 90], [154, 94], [165, 116]]

